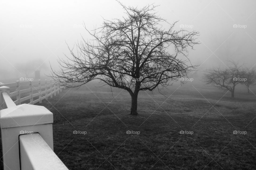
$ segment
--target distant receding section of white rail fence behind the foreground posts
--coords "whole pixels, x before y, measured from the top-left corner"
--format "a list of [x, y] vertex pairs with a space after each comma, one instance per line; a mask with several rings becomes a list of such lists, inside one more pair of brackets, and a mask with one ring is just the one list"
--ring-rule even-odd
[[10, 87], [10, 97], [13, 98], [16, 105], [25, 102], [28, 104], [42, 103], [43, 99], [56, 96], [59, 94], [63, 86], [56, 86], [53, 80], [38, 80], [38, 81], [16, 81], [15, 83], [4, 84], [0, 82], [1, 86]]

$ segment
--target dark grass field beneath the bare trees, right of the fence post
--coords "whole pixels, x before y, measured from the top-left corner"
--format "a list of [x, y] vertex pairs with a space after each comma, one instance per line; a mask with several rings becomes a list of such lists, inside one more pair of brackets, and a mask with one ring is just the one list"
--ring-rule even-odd
[[256, 169], [256, 96], [192, 85], [164, 90], [169, 99], [139, 92], [138, 116], [128, 92], [93, 83], [36, 105], [53, 112], [54, 152], [69, 169]]

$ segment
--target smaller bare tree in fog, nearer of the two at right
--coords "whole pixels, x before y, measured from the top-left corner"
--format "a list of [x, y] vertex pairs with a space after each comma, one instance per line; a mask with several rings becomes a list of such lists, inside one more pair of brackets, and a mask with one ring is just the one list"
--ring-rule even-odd
[[229, 90], [231, 97], [234, 97], [235, 86], [243, 83], [241, 65], [231, 61], [231, 65], [225, 69], [213, 68], [205, 71], [203, 81], [206, 85], [217, 87], [223, 90]]

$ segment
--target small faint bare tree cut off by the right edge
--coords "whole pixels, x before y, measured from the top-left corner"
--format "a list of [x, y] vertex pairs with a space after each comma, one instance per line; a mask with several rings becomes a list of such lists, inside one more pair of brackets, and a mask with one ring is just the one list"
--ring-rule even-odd
[[245, 86], [247, 87], [247, 92], [250, 93], [250, 85], [256, 84], [256, 71], [254, 68], [248, 69], [247, 67], [242, 71], [242, 77], [246, 78], [244, 82]]

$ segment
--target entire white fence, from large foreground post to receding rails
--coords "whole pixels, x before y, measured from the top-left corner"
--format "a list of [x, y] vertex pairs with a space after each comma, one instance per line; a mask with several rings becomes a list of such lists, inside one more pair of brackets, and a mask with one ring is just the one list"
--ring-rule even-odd
[[[43, 106], [33, 105], [56, 95], [61, 87], [51, 80], [17, 81], [0, 86], [0, 105], [4, 108], [0, 110], [3, 169], [68, 170], [53, 152], [53, 113]], [[13, 87], [13, 92], [7, 86]], [[16, 100], [10, 96], [16, 96]], [[21, 104], [26, 100], [29, 104]]]

